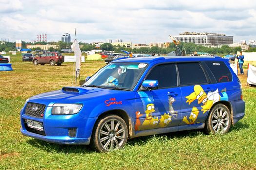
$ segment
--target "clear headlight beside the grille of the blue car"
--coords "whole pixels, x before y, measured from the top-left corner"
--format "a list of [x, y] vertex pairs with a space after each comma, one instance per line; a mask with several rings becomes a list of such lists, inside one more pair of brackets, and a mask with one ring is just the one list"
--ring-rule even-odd
[[54, 104], [52, 108], [53, 115], [70, 115], [78, 113], [82, 104]]

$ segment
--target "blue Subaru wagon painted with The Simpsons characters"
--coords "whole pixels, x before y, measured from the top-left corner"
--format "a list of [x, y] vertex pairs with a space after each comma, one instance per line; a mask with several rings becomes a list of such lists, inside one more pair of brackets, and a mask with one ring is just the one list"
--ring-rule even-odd
[[245, 115], [239, 78], [217, 56], [118, 59], [86, 80], [29, 98], [20, 111], [21, 133], [107, 152], [140, 136], [225, 134]]

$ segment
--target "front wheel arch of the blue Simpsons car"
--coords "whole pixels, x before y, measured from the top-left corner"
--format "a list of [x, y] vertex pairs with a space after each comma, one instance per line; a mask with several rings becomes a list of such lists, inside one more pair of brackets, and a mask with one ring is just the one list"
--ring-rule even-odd
[[97, 124], [98, 120], [103, 118], [103, 117], [105, 117], [105, 116], [107, 116], [107, 115], [117, 115], [117, 116], [121, 117], [125, 121], [125, 123], [127, 125], [128, 137], [130, 138], [132, 136], [132, 129], [133, 128], [132, 128], [131, 119], [129, 119], [129, 116], [128, 116], [127, 112], [122, 110], [122, 109], [108, 110], [108, 111], [105, 111], [105, 112], [101, 113], [98, 116], [97, 120], [95, 121], [95, 124], [94, 124], [94, 127], [93, 127], [93, 132], [94, 132], [94, 130], [96, 128], [96, 124]]

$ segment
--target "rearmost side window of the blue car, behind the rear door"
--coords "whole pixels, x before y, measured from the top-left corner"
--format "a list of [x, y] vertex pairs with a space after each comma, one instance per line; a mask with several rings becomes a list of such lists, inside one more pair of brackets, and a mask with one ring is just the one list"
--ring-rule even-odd
[[224, 62], [206, 61], [217, 83], [232, 81], [232, 74]]

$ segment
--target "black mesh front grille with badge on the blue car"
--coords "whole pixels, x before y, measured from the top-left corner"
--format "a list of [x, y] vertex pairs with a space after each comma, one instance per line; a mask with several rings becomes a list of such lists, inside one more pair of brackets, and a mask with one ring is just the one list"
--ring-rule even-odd
[[[45, 105], [29, 102], [25, 109], [25, 114], [29, 116], [42, 118], [45, 111]], [[37, 109], [36, 109], [37, 108]]]

